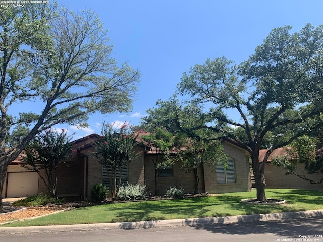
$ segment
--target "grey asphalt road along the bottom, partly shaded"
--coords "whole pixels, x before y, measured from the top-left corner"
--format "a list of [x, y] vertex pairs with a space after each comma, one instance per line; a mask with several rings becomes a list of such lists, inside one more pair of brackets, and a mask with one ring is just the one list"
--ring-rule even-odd
[[[300, 237], [317, 236], [317, 237]], [[323, 242], [323, 218], [255, 221], [234, 224], [160, 227], [149, 229], [112, 229], [51, 233], [1, 234], [1, 241], [239, 241]]]

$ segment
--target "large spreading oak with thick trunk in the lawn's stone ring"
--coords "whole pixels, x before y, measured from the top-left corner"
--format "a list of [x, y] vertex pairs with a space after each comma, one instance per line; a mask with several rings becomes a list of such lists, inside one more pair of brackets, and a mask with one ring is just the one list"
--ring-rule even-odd
[[[290, 30], [290, 26], [272, 30], [240, 65], [225, 57], [207, 59], [184, 72], [178, 84], [178, 93], [188, 97], [190, 105], [200, 107], [203, 120], [188, 132], [213, 130], [218, 139], [235, 138], [249, 152], [259, 201], [266, 200], [264, 171], [268, 156], [313, 129], [315, 122], [310, 120], [323, 111], [323, 26], [308, 24], [294, 34]], [[155, 113], [163, 109], [161, 105]], [[178, 107], [168, 109], [173, 112]], [[165, 116], [170, 118], [169, 123], [185, 127], [180, 115]], [[230, 127], [242, 129], [246, 138], [240, 140]], [[271, 132], [279, 135], [272, 137], [272, 146], [260, 165], [259, 150]]]

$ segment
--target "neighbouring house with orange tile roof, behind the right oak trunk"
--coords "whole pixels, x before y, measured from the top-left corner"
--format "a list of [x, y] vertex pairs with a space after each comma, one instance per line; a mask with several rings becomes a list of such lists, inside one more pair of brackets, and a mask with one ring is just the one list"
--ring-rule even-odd
[[[265, 168], [265, 180], [266, 188], [298, 188], [298, 189], [323, 189], [323, 184], [310, 184], [309, 181], [303, 180], [294, 174], [285, 175], [286, 170], [283, 167], [274, 166], [271, 161], [277, 156], [286, 156], [289, 160], [293, 160], [293, 157], [289, 156], [286, 149], [291, 149], [290, 147], [283, 147], [275, 149], [269, 156], [266, 168]], [[262, 161], [267, 149], [260, 150], [259, 161]], [[318, 155], [323, 155], [318, 153]], [[320, 180], [323, 176], [322, 173], [318, 174], [307, 174], [304, 170], [304, 164], [298, 164], [296, 172], [300, 175], [305, 175], [306, 177], [313, 180]]]

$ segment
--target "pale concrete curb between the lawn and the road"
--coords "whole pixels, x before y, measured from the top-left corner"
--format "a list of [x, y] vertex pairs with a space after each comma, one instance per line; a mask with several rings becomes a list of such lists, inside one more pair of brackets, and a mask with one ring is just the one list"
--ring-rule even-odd
[[238, 215], [238, 216], [227, 216], [227, 217], [211, 217], [211, 218], [153, 220], [153, 221], [141, 221], [141, 222], [8, 227], [8, 228], [0, 228], [0, 234], [88, 231], [88, 230], [110, 230], [110, 229], [139, 229], [139, 228], [174, 227], [174, 226], [194, 226], [194, 225], [203, 225], [203, 224], [230, 224], [230, 223], [250, 222], [250, 221], [272, 221], [272, 220], [280, 220], [280, 219], [287, 219], [287, 218], [309, 218], [309, 217], [319, 217], [319, 216], [323, 217], [323, 209], [299, 211], [299, 212], [287, 212], [287, 213], [268, 213], [268, 214]]

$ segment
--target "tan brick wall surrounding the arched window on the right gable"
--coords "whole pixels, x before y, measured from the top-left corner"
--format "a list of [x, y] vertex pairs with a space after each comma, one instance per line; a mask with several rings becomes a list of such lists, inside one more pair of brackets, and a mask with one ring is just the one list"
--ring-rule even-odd
[[234, 159], [236, 171], [236, 183], [217, 184], [217, 174], [214, 166], [204, 166], [205, 191], [208, 193], [230, 193], [243, 192], [251, 190], [249, 161], [246, 151], [231, 145], [223, 143], [224, 152]]

